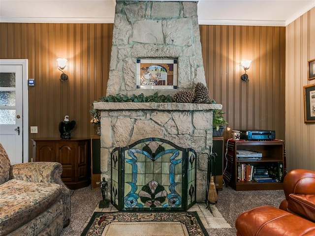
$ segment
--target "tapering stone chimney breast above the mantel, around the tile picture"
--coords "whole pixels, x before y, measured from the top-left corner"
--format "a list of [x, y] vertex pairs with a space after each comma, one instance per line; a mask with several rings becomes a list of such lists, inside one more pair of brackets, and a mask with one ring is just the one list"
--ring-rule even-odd
[[178, 60], [177, 89], [206, 84], [197, 1], [116, 1], [106, 95], [174, 95], [177, 89], [137, 89], [137, 59]]

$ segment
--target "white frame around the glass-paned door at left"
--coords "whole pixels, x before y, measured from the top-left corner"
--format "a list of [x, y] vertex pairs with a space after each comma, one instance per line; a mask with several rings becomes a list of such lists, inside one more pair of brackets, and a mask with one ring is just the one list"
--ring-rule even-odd
[[23, 89], [23, 159], [29, 162], [29, 90], [28, 90], [28, 59], [0, 59], [1, 65], [22, 65]]

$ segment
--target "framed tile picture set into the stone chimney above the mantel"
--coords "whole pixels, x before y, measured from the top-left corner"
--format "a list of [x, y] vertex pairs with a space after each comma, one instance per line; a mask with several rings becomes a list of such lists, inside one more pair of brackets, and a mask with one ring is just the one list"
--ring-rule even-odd
[[177, 59], [137, 59], [137, 89], [177, 89]]

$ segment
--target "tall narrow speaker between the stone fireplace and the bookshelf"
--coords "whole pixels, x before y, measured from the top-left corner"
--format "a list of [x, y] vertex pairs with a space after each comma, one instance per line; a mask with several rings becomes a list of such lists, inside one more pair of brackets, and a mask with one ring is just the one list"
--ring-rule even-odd
[[215, 184], [217, 189], [223, 187], [223, 153], [224, 153], [224, 138], [212, 137], [212, 153], [217, 153], [215, 171]]

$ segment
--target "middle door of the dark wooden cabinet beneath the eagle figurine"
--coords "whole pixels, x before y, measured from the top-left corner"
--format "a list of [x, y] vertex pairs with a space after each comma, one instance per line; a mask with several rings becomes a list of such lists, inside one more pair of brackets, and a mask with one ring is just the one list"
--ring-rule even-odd
[[63, 165], [63, 181], [75, 181], [75, 142], [57, 142], [56, 161]]

